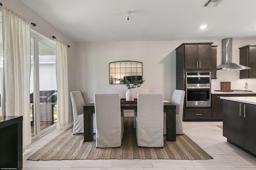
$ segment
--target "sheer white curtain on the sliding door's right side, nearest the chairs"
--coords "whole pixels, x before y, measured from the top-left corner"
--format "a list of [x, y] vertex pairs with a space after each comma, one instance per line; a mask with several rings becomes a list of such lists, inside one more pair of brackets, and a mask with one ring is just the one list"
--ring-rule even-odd
[[68, 62], [67, 46], [56, 39], [57, 129], [68, 123]]

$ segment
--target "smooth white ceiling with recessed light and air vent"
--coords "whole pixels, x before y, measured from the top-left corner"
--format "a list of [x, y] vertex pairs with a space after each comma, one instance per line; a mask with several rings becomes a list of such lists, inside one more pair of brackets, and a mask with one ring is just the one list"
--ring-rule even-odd
[[21, 1], [74, 42], [256, 39], [256, 0]]

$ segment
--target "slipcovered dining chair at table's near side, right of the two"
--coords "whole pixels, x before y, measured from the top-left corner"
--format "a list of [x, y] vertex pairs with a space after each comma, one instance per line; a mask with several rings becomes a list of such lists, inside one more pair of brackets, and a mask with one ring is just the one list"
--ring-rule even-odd
[[163, 93], [139, 93], [136, 137], [139, 147], [164, 147]]

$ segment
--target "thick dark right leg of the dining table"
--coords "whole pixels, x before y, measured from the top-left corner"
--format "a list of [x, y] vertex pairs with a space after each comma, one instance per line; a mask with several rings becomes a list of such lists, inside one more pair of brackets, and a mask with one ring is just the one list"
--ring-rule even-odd
[[166, 139], [176, 141], [176, 110], [166, 110]]

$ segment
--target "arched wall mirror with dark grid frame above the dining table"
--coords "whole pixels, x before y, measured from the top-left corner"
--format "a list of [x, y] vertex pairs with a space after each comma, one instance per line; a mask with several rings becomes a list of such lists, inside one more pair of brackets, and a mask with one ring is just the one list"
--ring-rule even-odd
[[138, 61], [116, 61], [109, 63], [109, 83], [120, 84], [120, 79], [132, 80], [142, 79], [142, 62]]

